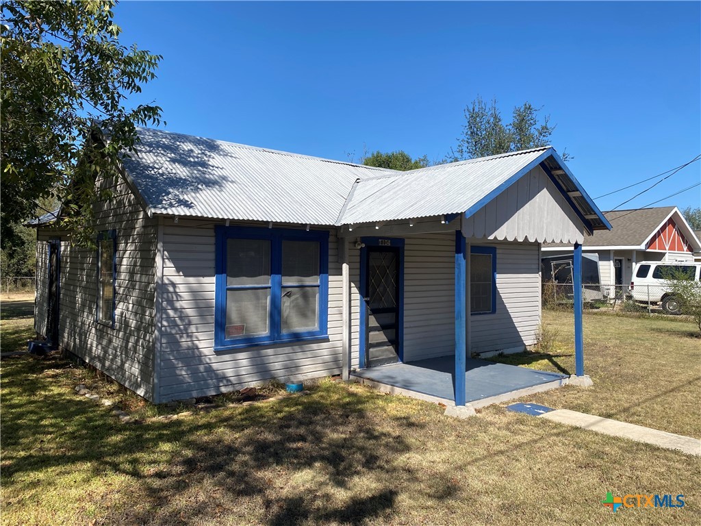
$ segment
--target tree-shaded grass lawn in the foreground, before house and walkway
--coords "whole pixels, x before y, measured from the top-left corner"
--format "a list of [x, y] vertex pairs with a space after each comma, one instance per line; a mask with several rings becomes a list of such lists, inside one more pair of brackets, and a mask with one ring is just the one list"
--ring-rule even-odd
[[[437, 405], [325, 381], [308, 396], [120, 424], [76, 396], [82, 373], [63, 360], [1, 368], [5, 525], [701, 521], [697, 458], [499, 406], [449, 419]], [[572, 402], [599, 392], [566, 391]], [[607, 491], [683, 493], [688, 505], [614, 515]]]

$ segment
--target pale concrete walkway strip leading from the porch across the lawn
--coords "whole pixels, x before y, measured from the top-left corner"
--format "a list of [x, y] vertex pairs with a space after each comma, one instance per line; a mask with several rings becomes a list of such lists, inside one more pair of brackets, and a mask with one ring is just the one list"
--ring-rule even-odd
[[701, 440], [689, 436], [675, 435], [666, 431], [658, 431], [649, 427], [618, 422], [604, 417], [596, 417], [593, 414], [570, 411], [569, 409], [556, 409], [540, 414], [538, 418], [545, 418], [560, 424], [577, 426], [582, 429], [590, 429], [597, 433], [610, 436], [621, 436], [636, 442], [653, 444], [665, 447], [668, 450], [679, 450], [688, 454], [701, 456]]

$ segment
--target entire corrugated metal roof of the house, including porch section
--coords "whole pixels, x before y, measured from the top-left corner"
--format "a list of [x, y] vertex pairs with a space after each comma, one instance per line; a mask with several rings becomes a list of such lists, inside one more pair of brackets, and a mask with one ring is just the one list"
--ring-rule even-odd
[[149, 213], [341, 225], [465, 213], [540, 165], [589, 229], [611, 227], [552, 147], [409, 172], [139, 128], [125, 173]]

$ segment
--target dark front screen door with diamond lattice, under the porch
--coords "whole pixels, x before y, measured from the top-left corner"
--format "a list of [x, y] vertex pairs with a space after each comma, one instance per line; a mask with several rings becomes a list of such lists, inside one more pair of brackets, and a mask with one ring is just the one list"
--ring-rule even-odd
[[365, 365], [396, 363], [400, 355], [400, 249], [368, 247]]

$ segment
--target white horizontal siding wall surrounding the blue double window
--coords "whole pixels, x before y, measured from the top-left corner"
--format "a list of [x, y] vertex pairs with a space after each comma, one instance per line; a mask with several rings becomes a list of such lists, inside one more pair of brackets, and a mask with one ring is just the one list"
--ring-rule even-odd
[[343, 288], [335, 229], [329, 235], [329, 339], [215, 352], [214, 227], [182, 219], [163, 225], [158, 401], [207, 396], [273, 379], [340, 374]]

